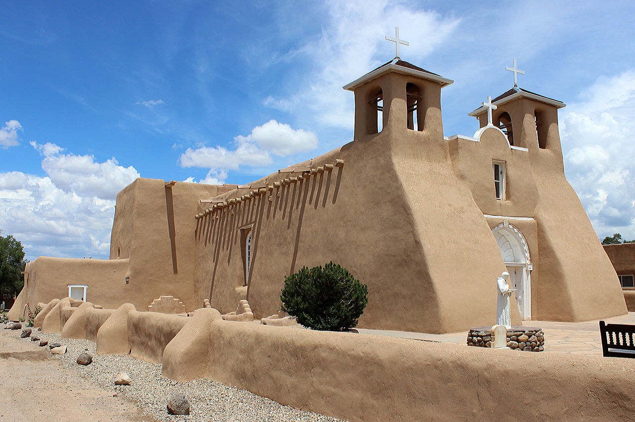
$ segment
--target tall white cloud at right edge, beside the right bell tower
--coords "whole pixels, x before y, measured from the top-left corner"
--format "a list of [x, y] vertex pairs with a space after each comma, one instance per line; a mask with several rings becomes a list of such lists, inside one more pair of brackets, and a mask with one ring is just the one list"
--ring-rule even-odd
[[[561, 116], [566, 177], [598, 236], [635, 238], [635, 72], [599, 78]], [[565, 109], [565, 110], [567, 110]]]

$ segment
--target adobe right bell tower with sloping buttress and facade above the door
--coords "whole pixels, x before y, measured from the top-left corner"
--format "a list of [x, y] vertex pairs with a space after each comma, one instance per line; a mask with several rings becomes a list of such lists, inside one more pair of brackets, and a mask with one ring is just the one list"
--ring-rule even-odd
[[[556, 109], [542, 110], [547, 148], [540, 149], [533, 118], [537, 104], [526, 99], [505, 104], [514, 144], [528, 151], [511, 149], [495, 129], [485, 129], [479, 142], [450, 140], [457, 177], [469, 186], [483, 214], [511, 217], [507, 220], [525, 236], [533, 263], [533, 319], [587, 321], [622, 315], [627, 308], [615, 271], [565, 179]], [[495, 198], [492, 160], [505, 161], [505, 201]], [[505, 219], [488, 220], [493, 228]]]

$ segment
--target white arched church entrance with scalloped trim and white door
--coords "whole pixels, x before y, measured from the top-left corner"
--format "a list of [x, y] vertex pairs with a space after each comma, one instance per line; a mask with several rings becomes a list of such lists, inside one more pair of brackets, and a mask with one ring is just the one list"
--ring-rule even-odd
[[525, 236], [507, 221], [491, 229], [491, 233], [507, 267], [512, 289], [517, 289], [520, 317], [531, 320], [531, 258]]

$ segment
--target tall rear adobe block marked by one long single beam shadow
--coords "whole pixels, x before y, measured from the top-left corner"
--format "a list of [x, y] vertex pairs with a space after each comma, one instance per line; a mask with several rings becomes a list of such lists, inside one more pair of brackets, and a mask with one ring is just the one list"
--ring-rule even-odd
[[119, 302], [108, 306], [130, 302], [147, 309], [159, 296], [174, 296], [188, 311], [199, 307], [202, 299], [195, 299], [192, 290], [196, 229], [192, 215], [199, 200], [233, 187], [187, 182], [166, 187], [164, 180], [139, 178], [117, 194], [110, 259], [130, 259], [130, 278]]

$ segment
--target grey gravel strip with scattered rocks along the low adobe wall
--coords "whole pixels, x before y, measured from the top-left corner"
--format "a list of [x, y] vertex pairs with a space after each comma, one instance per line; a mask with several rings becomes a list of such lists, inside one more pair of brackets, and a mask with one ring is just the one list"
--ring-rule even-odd
[[[308, 422], [339, 421], [294, 407], [284, 406], [250, 391], [229, 387], [209, 379], [197, 379], [187, 383], [170, 381], [161, 374], [160, 364], [151, 364], [144, 360], [127, 356], [99, 356], [95, 352], [95, 343], [88, 340], [62, 339], [60, 334], [33, 331], [33, 336], [58, 342], [68, 346], [66, 355], [53, 355], [69, 371], [95, 382], [113, 394], [128, 398], [138, 404], [144, 414], [157, 421], [215, 421], [215, 422]], [[23, 339], [37, 347], [37, 342]], [[46, 346], [48, 349], [48, 346]], [[80, 353], [86, 351], [93, 356], [88, 366], [78, 365]], [[114, 378], [119, 372], [127, 372], [131, 385], [116, 386]], [[189, 416], [168, 415], [166, 404], [175, 391], [184, 393], [190, 402]]]

